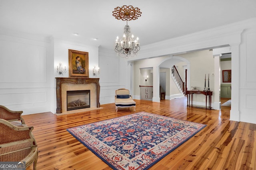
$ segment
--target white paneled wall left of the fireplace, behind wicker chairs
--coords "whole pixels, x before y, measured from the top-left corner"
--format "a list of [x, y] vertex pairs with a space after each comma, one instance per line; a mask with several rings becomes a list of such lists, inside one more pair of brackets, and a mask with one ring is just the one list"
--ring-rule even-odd
[[22, 33], [0, 34], [0, 105], [23, 115], [54, 108], [52, 43]]

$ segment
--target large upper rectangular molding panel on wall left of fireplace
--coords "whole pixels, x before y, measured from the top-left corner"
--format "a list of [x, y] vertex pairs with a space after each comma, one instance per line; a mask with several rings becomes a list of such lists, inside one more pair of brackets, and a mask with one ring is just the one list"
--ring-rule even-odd
[[5, 41], [1, 37], [0, 46], [0, 82], [46, 82], [46, 47], [40, 44], [21, 43], [13, 39]]

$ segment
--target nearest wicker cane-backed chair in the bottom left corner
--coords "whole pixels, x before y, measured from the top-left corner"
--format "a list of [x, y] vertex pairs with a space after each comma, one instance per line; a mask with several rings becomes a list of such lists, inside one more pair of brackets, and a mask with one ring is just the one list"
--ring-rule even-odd
[[38, 148], [32, 130], [0, 119], [0, 162], [26, 162], [26, 168], [34, 163], [36, 170]]

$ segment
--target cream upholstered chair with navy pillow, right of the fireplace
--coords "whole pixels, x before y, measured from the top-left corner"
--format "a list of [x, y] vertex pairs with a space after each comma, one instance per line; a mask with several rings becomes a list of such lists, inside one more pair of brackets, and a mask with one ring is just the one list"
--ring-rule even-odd
[[115, 96], [116, 112], [118, 107], [136, 107], [136, 102], [130, 96], [130, 91], [125, 88], [120, 88], [116, 90]]

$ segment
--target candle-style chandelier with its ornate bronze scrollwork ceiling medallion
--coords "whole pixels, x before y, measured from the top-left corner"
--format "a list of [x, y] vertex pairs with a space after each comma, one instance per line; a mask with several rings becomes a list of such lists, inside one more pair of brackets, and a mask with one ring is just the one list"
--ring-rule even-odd
[[126, 59], [134, 57], [140, 50], [139, 38], [137, 37], [137, 39], [134, 39], [134, 36], [130, 35], [131, 32], [128, 21], [137, 20], [141, 14], [142, 12], [140, 12], [139, 8], [134, 8], [131, 5], [114, 8], [113, 16], [117, 20], [126, 21], [123, 37], [120, 39], [116, 37], [115, 51], [120, 57], [124, 57]]

